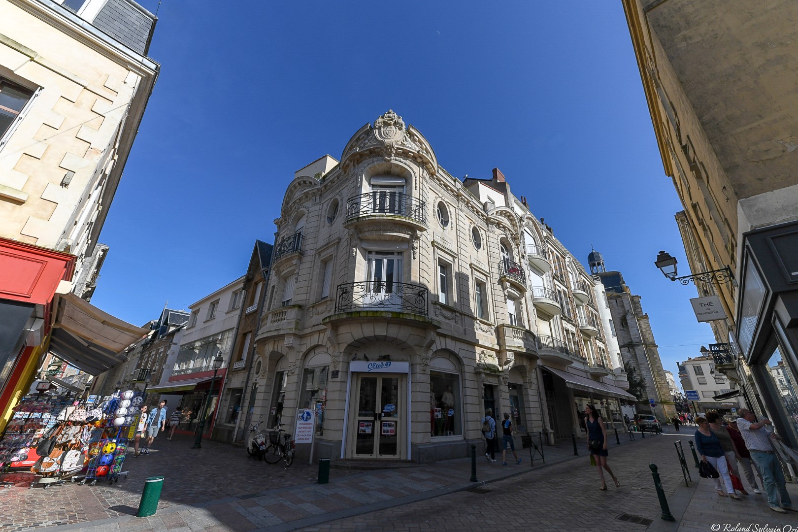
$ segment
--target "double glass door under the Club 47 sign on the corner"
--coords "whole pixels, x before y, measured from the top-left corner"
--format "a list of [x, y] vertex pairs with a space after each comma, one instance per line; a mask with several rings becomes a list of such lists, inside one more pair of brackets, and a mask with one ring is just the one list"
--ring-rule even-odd
[[354, 458], [401, 458], [405, 376], [358, 374], [353, 418]]

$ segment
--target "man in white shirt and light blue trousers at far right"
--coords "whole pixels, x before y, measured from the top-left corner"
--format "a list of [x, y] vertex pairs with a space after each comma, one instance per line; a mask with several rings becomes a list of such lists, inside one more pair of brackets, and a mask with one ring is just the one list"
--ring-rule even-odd
[[748, 408], [741, 408], [739, 414], [737, 428], [745, 439], [745, 447], [751, 451], [751, 459], [757, 464], [762, 475], [764, 491], [768, 494], [768, 506], [780, 514], [786, 514], [785, 510], [798, 511], [792, 509], [792, 501], [784, 485], [784, 471], [781, 470], [779, 457], [773, 450], [771, 439], [777, 436], [765, 428], [767, 425], [772, 425], [771, 421], [764, 417], [756, 423], [756, 416]]

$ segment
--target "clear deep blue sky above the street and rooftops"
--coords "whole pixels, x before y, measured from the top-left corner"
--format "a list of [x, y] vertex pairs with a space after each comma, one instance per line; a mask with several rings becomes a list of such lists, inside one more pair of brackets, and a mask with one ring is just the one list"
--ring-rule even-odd
[[[156, 0], [140, 0], [156, 10]], [[693, 286], [620, 0], [163, 0], [161, 64], [101, 242], [92, 300], [136, 325], [242, 275], [294, 171], [393, 108], [452, 175], [499, 167], [583, 263], [642, 295], [664, 367], [713, 341]]]

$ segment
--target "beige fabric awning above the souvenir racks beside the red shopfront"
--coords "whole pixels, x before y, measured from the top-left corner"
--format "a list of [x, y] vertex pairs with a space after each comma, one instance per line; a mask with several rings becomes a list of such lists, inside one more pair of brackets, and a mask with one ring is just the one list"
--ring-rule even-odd
[[58, 300], [49, 350], [89, 375], [99, 375], [126, 361], [124, 349], [147, 332], [75, 294], [64, 294]]

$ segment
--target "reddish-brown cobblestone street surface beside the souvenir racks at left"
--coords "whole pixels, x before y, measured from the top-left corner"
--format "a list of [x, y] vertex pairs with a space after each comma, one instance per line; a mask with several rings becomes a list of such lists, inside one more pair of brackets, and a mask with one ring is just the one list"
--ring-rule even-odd
[[[149, 455], [134, 457], [132, 447], [124, 461], [128, 477], [118, 483], [100, 481], [96, 486], [65, 483], [44, 490], [30, 488], [36, 475], [30, 472], [0, 475], [14, 482], [0, 489], [0, 532], [17, 532], [41, 526], [66, 525], [135, 514], [144, 480], [164, 475], [159, 511], [180, 504], [196, 504], [260, 491], [270, 486], [315, 482], [317, 469], [295, 461], [290, 469], [251, 459], [243, 447], [203, 441], [192, 449], [193, 438], [159, 437]], [[349, 472], [336, 473], [338, 476]]]

